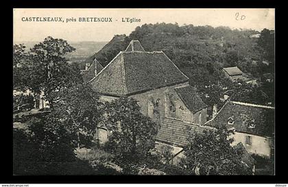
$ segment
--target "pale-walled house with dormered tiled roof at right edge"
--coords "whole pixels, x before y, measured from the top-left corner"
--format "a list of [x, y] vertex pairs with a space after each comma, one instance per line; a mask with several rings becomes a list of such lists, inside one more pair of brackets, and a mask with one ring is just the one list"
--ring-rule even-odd
[[227, 101], [205, 125], [234, 129], [233, 145], [241, 142], [250, 154], [271, 158], [274, 154], [274, 107]]

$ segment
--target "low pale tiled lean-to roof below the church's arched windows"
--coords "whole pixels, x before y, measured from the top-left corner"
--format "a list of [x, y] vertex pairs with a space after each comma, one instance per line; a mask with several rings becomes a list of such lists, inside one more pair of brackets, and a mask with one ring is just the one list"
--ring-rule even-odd
[[164, 119], [156, 136], [156, 140], [169, 145], [184, 147], [188, 144], [189, 132], [202, 133], [204, 130], [214, 129], [176, 119]]

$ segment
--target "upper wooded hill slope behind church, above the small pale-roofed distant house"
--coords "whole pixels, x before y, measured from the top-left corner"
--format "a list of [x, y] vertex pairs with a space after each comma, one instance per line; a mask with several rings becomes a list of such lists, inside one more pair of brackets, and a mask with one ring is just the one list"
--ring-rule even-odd
[[136, 27], [130, 36], [115, 36], [86, 62], [97, 58], [106, 66], [119, 51], [127, 47], [130, 40], [136, 39], [146, 51], [164, 51], [179, 68], [206, 63], [221, 67], [237, 65], [243, 72], [259, 77], [256, 66], [261, 66], [263, 50], [256, 43], [258, 38], [250, 38], [253, 34], [259, 32], [228, 27], [180, 27], [171, 23], [145, 24]]

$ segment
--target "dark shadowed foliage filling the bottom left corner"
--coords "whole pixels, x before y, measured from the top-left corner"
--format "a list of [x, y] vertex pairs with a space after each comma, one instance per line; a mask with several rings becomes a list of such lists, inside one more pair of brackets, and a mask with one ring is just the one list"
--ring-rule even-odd
[[[43, 152], [38, 149], [39, 147], [40, 145], [32, 140], [28, 132], [13, 129], [14, 175], [111, 175], [117, 173], [104, 166], [98, 166], [95, 169], [88, 161], [77, 158], [60, 161], [58, 160], [59, 153], [56, 153], [55, 157], [47, 159], [45, 155], [40, 155]], [[57, 147], [56, 149], [61, 151]]]

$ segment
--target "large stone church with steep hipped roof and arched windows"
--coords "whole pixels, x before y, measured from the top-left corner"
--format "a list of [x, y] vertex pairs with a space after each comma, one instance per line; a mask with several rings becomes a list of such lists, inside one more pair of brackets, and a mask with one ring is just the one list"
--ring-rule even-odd
[[[102, 102], [123, 96], [136, 99], [141, 112], [159, 125], [165, 119], [206, 123], [207, 106], [189, 85], [189, 78], [163, 51], [145, 51], [139, 40], [132, 40], [88, 84]], [[109, 135], [105, 126], [97, 125], [96, 137], [102, 143]]]

